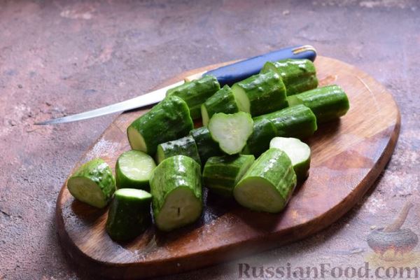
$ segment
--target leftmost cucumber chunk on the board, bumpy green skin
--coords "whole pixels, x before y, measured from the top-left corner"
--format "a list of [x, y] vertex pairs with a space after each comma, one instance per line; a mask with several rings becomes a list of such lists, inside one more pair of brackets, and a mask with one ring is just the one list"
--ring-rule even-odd
[[93, 207], [104, 208], [116, 191], [112, 170], [104, 160], [86, 162], [67, 181], [69, 193]]

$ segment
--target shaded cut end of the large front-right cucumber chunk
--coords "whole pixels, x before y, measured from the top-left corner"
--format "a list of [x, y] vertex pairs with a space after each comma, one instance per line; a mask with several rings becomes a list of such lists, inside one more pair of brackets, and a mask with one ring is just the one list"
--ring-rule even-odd
[[240, 181], [233, 195], [239, 204], [253, 211], [278, 213], [286, 205], [274, 186], [260, 177], [248, 177]]

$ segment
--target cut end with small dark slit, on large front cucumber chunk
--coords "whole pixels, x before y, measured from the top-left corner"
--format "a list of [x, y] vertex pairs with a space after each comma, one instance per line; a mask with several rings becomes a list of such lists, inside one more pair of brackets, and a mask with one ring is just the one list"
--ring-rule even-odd
[[190, 188], [179, 187], [167, 195], [155, 222], [160, 230], [169, 231], [193, 223], [201, 214], [202, 202]]

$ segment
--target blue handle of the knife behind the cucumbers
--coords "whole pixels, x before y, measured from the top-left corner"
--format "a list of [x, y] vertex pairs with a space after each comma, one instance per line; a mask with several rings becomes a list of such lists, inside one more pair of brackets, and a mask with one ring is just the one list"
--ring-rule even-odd
[[264, 66], [265, 62], [274, 62], [287, 58], [306, 58], [314, 61], [315, 57], [316, 50], [314, 47], [311, 45], [299, 45], [291, 48], [283, 48], [274, 52], [269, 52], [265, 55], [251, 57], [234, 64], [229, 64], [218, 69], [207, 71], [204, 73], [204, 75], [215, 76], [221, 86], [232, 85], [239, 80], [244, 80], [250, 76], [258, 74], [262, 69], [262, 66]]

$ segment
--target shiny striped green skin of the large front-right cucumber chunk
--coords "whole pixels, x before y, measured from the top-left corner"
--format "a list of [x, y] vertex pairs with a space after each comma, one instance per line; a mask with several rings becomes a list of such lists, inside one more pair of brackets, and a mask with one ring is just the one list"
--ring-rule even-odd
[[235, 189], [240, 188], [241, 182], [255, 177], [268, 181], [276, 188], [276, 191], [283, 198], [284, 209], [297, 184], [296, 174], [288, 155], [278, 148], [269, 148], [249, 167]]

